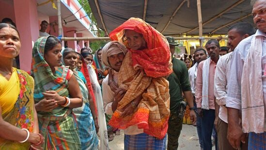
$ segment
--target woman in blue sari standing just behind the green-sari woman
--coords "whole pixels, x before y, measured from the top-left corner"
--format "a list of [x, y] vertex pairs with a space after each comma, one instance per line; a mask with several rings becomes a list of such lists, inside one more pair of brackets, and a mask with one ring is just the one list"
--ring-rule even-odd
[[[78, 55], [75, 50], [66, 48], [62, 50], [62, 64], [69, 66], [74, 72], [82, 93], [82, 107], [74, 108], [73, 113], [76, 115], [78, 122], [78, 133], [81, 141], [82, 150], [96, 150], [98, 146], [98, 137], [96, 131], [99, 126], [97, 115], [95, 114], [94, 102], [88, 92], [88, 85], [82, 72], [77, 71]], [[94, 117], [93, 117], [94, 116]], [[95, 127], [94, 127], [95, 122]]]

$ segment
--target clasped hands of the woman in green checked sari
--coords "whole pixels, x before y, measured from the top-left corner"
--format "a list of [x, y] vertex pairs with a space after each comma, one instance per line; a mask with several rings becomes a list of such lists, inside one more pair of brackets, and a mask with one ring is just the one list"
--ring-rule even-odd
[[51, 112], [54, 108], [58, 106], [56, 100], [47, 100], [43, 99], [35, 104], [36, 111], [42, 111], [42, 112]]

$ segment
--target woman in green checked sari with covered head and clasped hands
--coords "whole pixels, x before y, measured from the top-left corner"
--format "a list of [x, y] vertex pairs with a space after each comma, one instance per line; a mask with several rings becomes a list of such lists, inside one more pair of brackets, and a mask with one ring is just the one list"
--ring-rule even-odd
[[61, 66], [61, 42], [54, 36], [39, 38], [32, 51], [34, 101], [45, 150], [80, 150], [72, 108], [82, 106], [77, 79]]

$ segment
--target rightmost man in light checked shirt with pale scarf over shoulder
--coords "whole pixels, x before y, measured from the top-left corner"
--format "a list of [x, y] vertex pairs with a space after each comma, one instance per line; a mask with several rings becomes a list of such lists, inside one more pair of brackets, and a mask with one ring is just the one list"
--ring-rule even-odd
[[[252, 9], [258, 30], [235, 48], [228, 80], [226, 107], [228, 140], [240, 149], [249, 133], [249, 149], [266, 149], [266, 0], [257, 0]], [[238, 118], [241, 111], [242, 124]]]

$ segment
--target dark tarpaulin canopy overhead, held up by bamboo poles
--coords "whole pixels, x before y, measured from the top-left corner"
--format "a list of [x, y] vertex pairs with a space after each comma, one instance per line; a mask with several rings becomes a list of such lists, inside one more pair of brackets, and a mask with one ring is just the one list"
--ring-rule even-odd
[[106, 34], [130, 17], [139, 17], [164, 35], [199, 35], [197, 1], [203, 34], [226, 34], [237, 22], [252, 21], [254, 0], [88, 0]]

